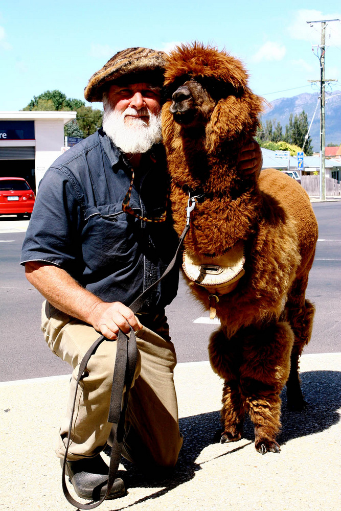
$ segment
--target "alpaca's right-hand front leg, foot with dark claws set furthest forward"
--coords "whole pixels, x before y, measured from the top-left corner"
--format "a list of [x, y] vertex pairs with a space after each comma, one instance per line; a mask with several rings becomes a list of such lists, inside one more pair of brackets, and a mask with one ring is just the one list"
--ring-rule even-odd
[[280, 393], [289, 376], [293, 333], [287, 322], [260, 330], [249, 328], [240, 367], [241, 392], [255, 425], [255, 448], [261, 454], [280, 452]]

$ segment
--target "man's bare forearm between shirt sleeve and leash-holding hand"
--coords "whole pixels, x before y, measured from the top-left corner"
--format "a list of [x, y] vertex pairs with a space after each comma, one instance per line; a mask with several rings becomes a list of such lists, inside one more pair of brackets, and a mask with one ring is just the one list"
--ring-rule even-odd
[[92, 324], [91, 316], [103, 300], [84, 289], [62, 268], [28, 262], [25, 265], [27, 280], [62, 312]]

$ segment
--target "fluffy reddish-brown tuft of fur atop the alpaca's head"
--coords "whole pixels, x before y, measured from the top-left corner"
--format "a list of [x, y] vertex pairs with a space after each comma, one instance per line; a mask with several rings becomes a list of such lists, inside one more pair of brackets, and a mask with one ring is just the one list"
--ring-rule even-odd
[[231, 57], [224, 50], [219, 52], [210, 46], [204, 47], [199, 42], [181, 44], [166, 56], [165, 85], [170, 85], [176, 78], [189, 77], [214, 78], [232, 84], [236, 90], [247, 87], [248, 75], [241, 62]]

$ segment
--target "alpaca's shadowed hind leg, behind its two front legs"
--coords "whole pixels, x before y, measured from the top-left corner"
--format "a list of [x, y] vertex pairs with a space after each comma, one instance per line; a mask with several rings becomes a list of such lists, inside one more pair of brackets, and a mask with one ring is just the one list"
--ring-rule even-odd
[[307, 407], [300, 385], [299, 358], [311, 337], [314, 312], [315, 308], [309, 300], [305, 300], [303, 307], [287, 307], [287, 319], [294, 333], [290, 374], [286, 383], [288, 408], [291, 410], [300, 411]]

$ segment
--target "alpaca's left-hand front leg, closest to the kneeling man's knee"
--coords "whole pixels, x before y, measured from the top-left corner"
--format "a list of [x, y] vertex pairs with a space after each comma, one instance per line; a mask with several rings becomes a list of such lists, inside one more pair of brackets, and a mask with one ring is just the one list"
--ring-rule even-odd
[[245, 413], [238, 385], [240, 343], [236, 339], [226, 339], [223, 331], [217, 330], [211, 335], [209, 344], [210, 362], [213, 370], [225, 380], [222, 396], [220, 442], [235, 442], [242, 436]]

